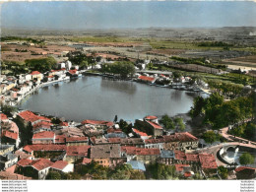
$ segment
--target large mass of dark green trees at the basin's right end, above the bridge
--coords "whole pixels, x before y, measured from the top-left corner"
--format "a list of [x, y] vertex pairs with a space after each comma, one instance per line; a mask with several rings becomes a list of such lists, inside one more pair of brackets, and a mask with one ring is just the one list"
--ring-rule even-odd
[[191, 107], [190, 115], [192, 118], [201, 116], [203, 124], [219, 129], [246, 118], [252, 118], [255, 114], [254, 106], [255, 94], [224, 102], [224, 96], [214, 93], [207, 98], [197, 96]]

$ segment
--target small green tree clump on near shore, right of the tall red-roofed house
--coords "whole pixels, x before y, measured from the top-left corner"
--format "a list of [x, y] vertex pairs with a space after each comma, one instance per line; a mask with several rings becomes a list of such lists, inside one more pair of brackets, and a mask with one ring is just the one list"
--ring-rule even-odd
[[180, 117], [171, 118], [167, 114], [164, 114], [161, 119], [160, 123], [166, 130], [180, 130], [184, 131], [186, 126], [183, 122], [183, 119]]

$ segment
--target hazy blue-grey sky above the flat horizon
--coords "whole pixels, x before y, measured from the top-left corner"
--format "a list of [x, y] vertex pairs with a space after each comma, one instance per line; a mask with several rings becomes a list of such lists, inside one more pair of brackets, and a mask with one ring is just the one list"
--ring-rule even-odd
[[220, 1], [8, 2], [1, 28], [137, 29], [256, 27], [256, 3]]

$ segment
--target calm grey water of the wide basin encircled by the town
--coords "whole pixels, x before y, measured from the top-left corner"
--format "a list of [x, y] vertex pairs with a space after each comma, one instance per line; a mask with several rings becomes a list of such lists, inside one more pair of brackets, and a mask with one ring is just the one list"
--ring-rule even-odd
[[135, 82], [85, 77], [41, 88], [27, 97], [20, 108], [65, 119], [134, 121], [146, 115], [175, 115], [188, 112], [193, 97], [185, 91], [154, 87]]

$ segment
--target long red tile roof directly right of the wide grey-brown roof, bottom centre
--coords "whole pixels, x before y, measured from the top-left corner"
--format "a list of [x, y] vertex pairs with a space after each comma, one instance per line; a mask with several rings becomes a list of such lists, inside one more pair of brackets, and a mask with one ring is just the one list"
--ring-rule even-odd
[[131, 146], [122, 146], [121, 151], [125, 152], [127, 155], [137, 155], [137, 156], [160, 155], [160, 149], [144, 149], [144, 148], [136, 148]]

